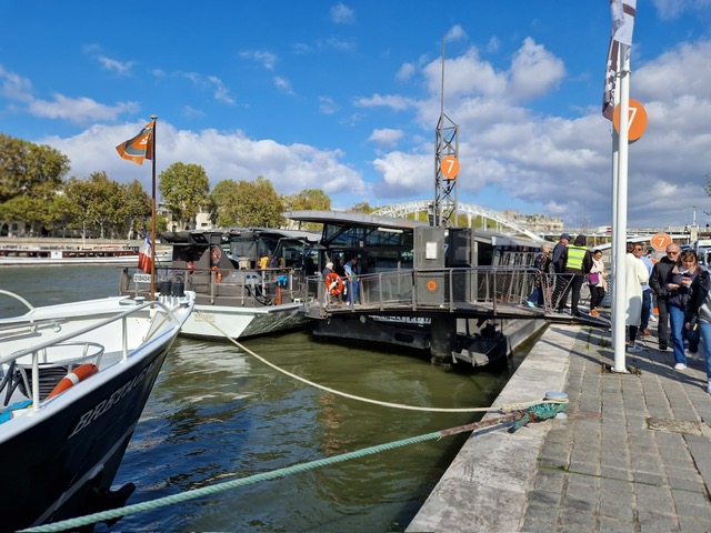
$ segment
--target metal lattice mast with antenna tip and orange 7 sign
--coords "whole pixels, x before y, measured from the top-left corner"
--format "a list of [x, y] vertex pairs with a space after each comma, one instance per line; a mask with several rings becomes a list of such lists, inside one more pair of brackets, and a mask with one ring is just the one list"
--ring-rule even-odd
[[450, 227], [455, 224], [458, 175], [459, 125], [444, 113], [444, 37], [442, 37], [442, 87], [440, 120], [434, 133], [434, 201], [432, 202], [430, 225]]

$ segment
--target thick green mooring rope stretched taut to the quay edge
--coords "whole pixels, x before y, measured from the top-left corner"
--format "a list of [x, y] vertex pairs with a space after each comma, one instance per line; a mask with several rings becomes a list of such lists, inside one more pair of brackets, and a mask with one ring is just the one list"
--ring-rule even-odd
[[432, 433], [425, 433], [423, 435], [411, 436], [408, 439], [401, 439], [399, 441], [388, 442], [385, 444], [378, 444], [375, 446], [364, 447], [354, 452], [342, 453], [340, 455], [333, 455], [331, 457], [318, 459], [308, 463], [294, 464], [283, 469], [272, 470], [271, 472], [263, 472], [261, 474], [250, 475], [248, 477], [240, 477], [239, 480], [226, 481], [216, 485], [203, 486], [201, 489], [193, 489], [190, 491], [181, 492], [179, 494], [171, 494], [170, 496], [158, 497], [149, 502], [134, 503], [120, 509], [112, 509], [109, 511], [102, 511], [99, 513], [88, 514], [86, 516], [79, 516], [76, 519], [63, 520], [61, 522], [54, 522], [46, 525], [38, 525], [21, 530], [22, 532], [56, 532], [66, 531], [74, 527], [81, 527], [83, 525], [93, 524], [97, 522], [106, 522], [108, 520], [119, 519], [128, 516], [130, 514], [137, 514], [144, 511], [154, 511], [160, 507], [173, 505], [176, 503], [183, 503], [189, 500], [196, 500], [202, 496], [209, 496], [218, 494], [220, 492], [229, 491], [240, 486], [250, 485], [261, 481], [270, 481], [278, 477], [284, 477], [291, 474], [298, 474], [308, 470], [318, 469], [321, 466], [328, 466], [331, 464], [340, 463], [351, 459], [363, 457], [365, 455], [373, 455], [375, 453], [384, 452], [388, 450], [394, 450], [397, 447], [407, 446], [410, 444], [417, 444], [434, 439], [442, 439], [443, 436], [455, 435], [468, 431], [477, 431], [484, 428], [491, 428], [493, 425], [503, 424], [505, 422], [513, 422], [512, 430], [525, 425], [529, 422], [538, 422], [545, 419], [555, 416], [555, 414], [563, 412], [568, 405], [565, 404], [543, 404], [532, 406], [529, 411], [515, 411], [503, 416], [490, 419], [481, 422], [474, 422], [467, 425], [460, 425], [457, 428], [450, 428], [448, 430], [435, 431]]

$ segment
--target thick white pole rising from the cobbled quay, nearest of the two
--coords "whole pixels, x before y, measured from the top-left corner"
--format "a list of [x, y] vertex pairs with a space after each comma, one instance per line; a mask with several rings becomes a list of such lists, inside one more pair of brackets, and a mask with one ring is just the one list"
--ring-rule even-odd
[[630, 127], [630, 47], [620, 43], [620, 148], [618, 155], [618, 205], [617, 227], [612, 228], [615, 252], [615, 279], [613, 286], [613, 309], [617, 309], [613, 324], [614, 372], [625, 373], [624, 316], [627, 302], [627, 193], [628, 193], [628, 152]]

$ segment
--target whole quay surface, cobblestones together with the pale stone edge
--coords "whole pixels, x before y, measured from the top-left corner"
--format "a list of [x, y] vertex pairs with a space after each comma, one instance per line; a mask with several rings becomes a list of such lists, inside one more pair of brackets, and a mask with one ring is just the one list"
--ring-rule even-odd
[[472, 434], [407, 531], [711, 532], [703, 362], [647, 339], [612, 373], [609, 331], [549, 326], [494, 405], [562, 390], [567, 419]]

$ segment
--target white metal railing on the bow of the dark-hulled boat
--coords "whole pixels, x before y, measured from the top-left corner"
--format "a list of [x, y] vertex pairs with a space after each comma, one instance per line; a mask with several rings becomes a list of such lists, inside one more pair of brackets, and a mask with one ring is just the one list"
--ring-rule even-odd
[[[6, 405], [13, 390], [17, 386], [24, 386], [26, 392], [31, 391], [32, 408], [34, 411], [38, 411], [41, 406], [40, 402], [43, 401], [47, 395], [47, 391], [42, 390], [42, 388], [48, 386], [47, 380], [40, 379], [40, 371], [47, 370], [49, 365], [61, 366], [63, 369], [69, 368], [70, 370], [72, 366], [87, 362], [94, 362], [94, 364], [99, 365], [101, 356], [104, 353], [104, 346], [97, 342], [77, 339], [78, 336], [120, 321], [121, 360], [127, 360], [129, 342], [131, 339], [136, 339], [136, 333], [132, 332], [133, 321], [130, 319], [137, 313], [152, 313], [153, 321], [151, 321], [150, 334], [156, 332], [157, 326], [154, 324], [159, 322], [172, 321], [176, 326], [179, 328], [181, 325], [181, 322], [173, 314], [171, 306], [164, 302], [144, 302], [142, 299], [131, 301], [127, 299], [126, 303], [126, 311], [98, 322], [92, 322], [89, 325], [72, 330], [68, 333], [59, 334], [58, 332], [57, 335], [51, 335], [51, 338], [46, 340], [40, 339], [30, 346], [17, 350], [7, 355], [1, 355], [0, 364], [8, 365], [6, 375], [0, 382], [0, 394], [6, 388], [9, 388], [6, 393]], [[142, 331], [141, 334], [148, 336], [144, 331]], [[61, 358], [52, 358], [51, 354], [53, 351], [61, 351]], [[30, 374], [29, 376], [27, 375], [28, 372]], [[67, 372], [64, 375], [66, 374]], [[19, 379], [17, 379], [18, 375]]]

